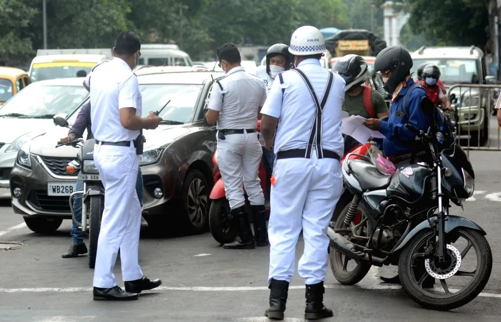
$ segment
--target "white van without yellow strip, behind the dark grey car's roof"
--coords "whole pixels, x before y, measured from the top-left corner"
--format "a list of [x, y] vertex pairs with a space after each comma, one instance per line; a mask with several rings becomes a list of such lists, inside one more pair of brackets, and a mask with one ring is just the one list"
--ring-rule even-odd
[[192, 66], [189, 54], [179, 50], [176, 44], [141, 44], [140, 65], [150, 66]]

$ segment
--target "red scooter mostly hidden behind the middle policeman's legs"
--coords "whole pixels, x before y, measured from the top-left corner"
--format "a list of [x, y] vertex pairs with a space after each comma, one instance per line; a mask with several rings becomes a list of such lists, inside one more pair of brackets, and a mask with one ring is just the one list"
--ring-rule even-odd
[[[259, 132], [261, 128], [261, 120], [258, 120], [258, 126], [256, 130]], [[221, 171], [217, 165], [217, 148], [212, 156], [212, 163], [214, 164], [214, 186], [210, 191], [209, 199], [211, 200], [209, 208], [209, 228], [214, 239], [225, 244], [235, 240], [237, 231], [236, 226], [233, 224], [233, 216], [230, 213], [229, 202], [226, 198], [226, 191], [224, 190], [224, 184], [222, 182]], [[263, 163], [259, 165], [258, 170], [259, 178], [261, 179], [261, 188], [263, 193], [266, 193], [266, 169]], [[243, 188], [245, 193], [245, 187]], [[247, 194], [245, 193], [245, 203], [247, 209], [250, 209], [250, 204], [247, 199]], [[267, 205], [267, 212], [270, 215], [270, 205]], [[252, 215], [250, 211], [248, 212], [249, 222], [252, 222]], [[267, 218], [268, 219], [268, 218]]]

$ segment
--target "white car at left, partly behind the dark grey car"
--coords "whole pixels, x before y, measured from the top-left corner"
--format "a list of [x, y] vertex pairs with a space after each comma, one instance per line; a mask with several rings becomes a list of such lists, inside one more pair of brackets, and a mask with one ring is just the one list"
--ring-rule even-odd
[[0, 188], [9, 188], [9, 174], [21, 146], [53, 126], [55, 114], [73, 112], [89, 96], [83, 80], [37, 81], [0, 107]]

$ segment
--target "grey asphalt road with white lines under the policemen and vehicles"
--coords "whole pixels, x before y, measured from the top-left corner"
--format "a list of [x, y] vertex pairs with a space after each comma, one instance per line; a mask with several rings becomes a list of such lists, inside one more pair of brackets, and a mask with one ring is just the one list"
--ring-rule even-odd
[[[498, 321], [501, 316], [500, 152], [471, 151], [475, 168], [474, 198], [464, 215], [487, 231], [493, 253], [490, 280], [481, 296], [449, 312], [426, 310], [408, 298], [398, 285], [380, 283], [374, 268], [357, 286], [341, 286], [328, 271], [325, 304], [335, 317], [326, 321]], [[210, 233], [197, 236], [143, 235], [140, 264], [149, 277], [163, 284], [136, 301], [92, 300], [93, 270], [87, 256], [61, 258], [70, 244], [70, 221], [52, 235], [31, 232], [9, 202], [0, 203], [2, 241], [21, 242], [0, 249], [0, 321], [266, 321], [268, 305], [268, 247], [222, 249]], [[301, 239], [301, 238], [300, 238]], [[9, 246], [12, 246], [10, 244]], [[2, 247], [0, 247], [2, 248]], [[302, 241], [298, 245], [302, 250]], [[297, 258], [299, 259], [299, 252]], [[385, 268], [390, 276], [394, 268]], [[115, 269], [121, 282], [120, 266]], [[289, 291], [285, 321], [302, 321], [304, 288], [296, 275]]]

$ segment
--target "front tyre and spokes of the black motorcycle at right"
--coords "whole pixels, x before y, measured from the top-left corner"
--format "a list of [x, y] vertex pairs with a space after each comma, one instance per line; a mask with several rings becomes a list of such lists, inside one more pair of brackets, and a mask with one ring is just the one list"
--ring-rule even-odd
[[[480, 232], [469, 228], [459, 227], [456, 230], [449, 232], [445, 237], [446, 244], [449, 246], [451, 246], [450, 244], [455, 242], [459, 237], [467, 239], [468, 245], [471, 244], [469, 247], [466, 246], [462, 251], [456, 249], [458, 253], [460, 252], [461, 256], [461, 262], [458, 263], [459, 270], [454, 272], [454, 270], [448, 269], [448, 267], [441, 269], [444, 277], [445, 273], [447, 273], [448, 271], [450, 271], [450, 273], [453, 273], [453, 275], [447, 278], [437, 279], [440, 284], [439, 287], [444, 291], [445, 295], [434, 292], [433, 288], [423, 288], [422, 285], [420, 285], [421, 280], [424, 280], [426, 276], [430, 276], [428, 272], [425, 272], [421, 277], [415, 276], [415, 268], [419, 267], [418, 264], [423, 266], [425, 265], [423, 249], [426, 246], [427, 241], [435, 238], [434, 233], [431, 229], [422, 231], [414, 236], [414, 238], [406, 245], [406, 247], [400, 254], [398, 262], [398, 275], [405, 292], [409, 295], [410, 298], [412, 298], [412, 300], [428, 309], [450, 310], [463, 306], [464, 304], [470, 302], [485, 287], [492, 269], [492, 253], [490, 246], [487, 242], [487, 239], [485, 239], [485, 237]], [[476, 269], [473, 272], [462, 271], [460, 267], [460, 265], [462, 264], [462, 259], [467, 253], [469, 254], [468, 250], [470, 248], [474, 248], [476, 252]], [[454, 253], [450, 251], [450, 254], [452, 255], [448, 256], [449, 258], [452, 258]], [[418, 264], [415, 264], [414, 262], [418, 258], [419, 262]], [[454, 259], [457, 261], [457, 258], [452, 258], [451, 262], [453, 262]], [[436, 266], [435, 258], [430, 258], [429, 260], [430, 263]], [[453, 276], [471, 276], [472, 280], [469, 284], [465, 283], [466, 287], [459, 289], [457, 292], [451, 293], [446, 280]], [[463, 283], [461, 283], [461, 285], [462, 284]], [[438, 288], [435, 289], [438, 290]]]

